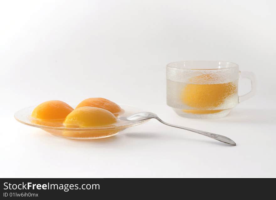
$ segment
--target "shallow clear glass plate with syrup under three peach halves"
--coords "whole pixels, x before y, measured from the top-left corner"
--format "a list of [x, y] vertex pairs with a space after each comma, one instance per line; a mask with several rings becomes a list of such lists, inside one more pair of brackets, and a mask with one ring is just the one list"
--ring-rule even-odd
[[[126, 117], [134, 113], [143, 111], [141, 109], [138, 109], [129, 105], [120, 105], [120, 106], [124, 110], [124, 113], [119, 115], [119, 117]], [[101, 126], [101, 127], [90, 127], [90, 128], [67, 128], [62, 126], [60, 122], [58, 124], [55, 121], [51, 122], [50, 120], [45, 121], [47, 123], [40, 123], [40, 124], [35, 123], [34, 122], [35, 120], [31, 117], [32, 111], [34, 110], [35, 107], [36, 106], [31, 106], [17, 111], [14, 114], [15, 119], [21, 122], [22, 124], [41, 128], [42, 130], [47, 131], [52, 135], [65, 137], [69, 139], [76, 139], [76, 140], [99, 139], [99, 138], [114, 136], [119, 131], [123, 131], [126, 128], [129, 128], [131, 126], [137, 126], [148, 121], [148, 120], [123, 121], [123, 120], [119, 120], [118, 118], [117, 122], [112, 126]], [[45, 124], [48, 124], [48, 125], [45, 125]]]

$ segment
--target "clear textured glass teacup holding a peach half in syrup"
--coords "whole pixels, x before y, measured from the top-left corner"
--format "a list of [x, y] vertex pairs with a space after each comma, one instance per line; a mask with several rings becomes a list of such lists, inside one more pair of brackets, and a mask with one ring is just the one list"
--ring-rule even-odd
[[[238, 95], [239, 78], [251, 80], [251, 91]], [[256, 91], [252, 72], [226, 61], [179, 61], [167, 64], [167, 105], [188, 118], [220, 118]]]

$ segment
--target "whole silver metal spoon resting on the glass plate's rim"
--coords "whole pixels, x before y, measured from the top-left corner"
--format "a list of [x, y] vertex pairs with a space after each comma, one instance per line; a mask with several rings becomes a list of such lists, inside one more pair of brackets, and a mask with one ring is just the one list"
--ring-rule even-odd
[[130, 115], [128, 117], [120, 117], [120, 120], [127, 120], [127, 121], [142, 121], [142, 120], [148, 120], [148, 119], [157, 119], [158, 121], [160, 121], [161, 123], [167, 125], [167, 126], [172, 126], [172, 127], [176, 127], [176, 128], [181, 128], [184, 130], [188, 130], [188, 131], [192, 131], [195, 133], [199, 133], [201, 135], [213, 138], [215, 140], [224, 142], [226, 144], [230, 144], [235, 146], [236, 143], [231, 140], [230, 138], [226, 137], [226, 136], [222, 136], [222, 135], [218, 135], [218, 134], [214, 134], [214, 133], [210, 133], [210, 132], [206, 132], [206, 131], [200, 131], [200, 130], [196, 130], [196, 129], [192, 129], [192, 128], [187, 128], [187, 127], [183, 127], [183, 126], [177, 126], [177, 125], [173, 125], [173, 124], [169, 124], [163, 120], [161, 120], [156, 114], [152, 113], [152, 112], [138, 112], [135, 113], [133, 115]]

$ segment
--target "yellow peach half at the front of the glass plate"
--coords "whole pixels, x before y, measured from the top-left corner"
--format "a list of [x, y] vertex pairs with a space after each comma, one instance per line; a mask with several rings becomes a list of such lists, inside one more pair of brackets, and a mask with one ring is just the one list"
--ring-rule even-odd
[[99, 127], [112, 125], [117, 118], [108, 110], [96, 107], [79, 107], [66, 116], [66, 127]]

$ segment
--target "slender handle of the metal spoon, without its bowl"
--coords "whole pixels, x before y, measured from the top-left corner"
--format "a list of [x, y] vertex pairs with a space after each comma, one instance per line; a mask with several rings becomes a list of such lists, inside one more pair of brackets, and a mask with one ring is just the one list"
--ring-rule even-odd
[[200, 131], [200, 130], [196, 130], [196, 129], [188, 128], [188, 127], [184, 127], [184, 126], [177, 126], [177, 125], [174, 125], [174, 124], [169, 124], [169, 123], [161, 120], [159, 117], [156, 118], [156, 119], [158, 121], [160, 121], [161, 123], [167, 125], [167, 126], [172, 126], [172, 127], [175, 127], [175, 128], [181, 128], [181, 129], [184, 129], [184, 130], [192, 131], [192, 132], [199, 133], [201, 135], [213, 138], [215, 140], [218, 140], [218, 141], [221, 141], [221, 142], [233, 145], [233, 146], [236, 145], [236, 142], [234, 142], [233, 140], [231, 140], [230, 138], [228, 138], [226, 136], [222, 136], [222, 135], [218, 135], [218, 134], [214, 134], [214, 133], [210, 133], [210, 132], [206, 132], [206, 131]]

